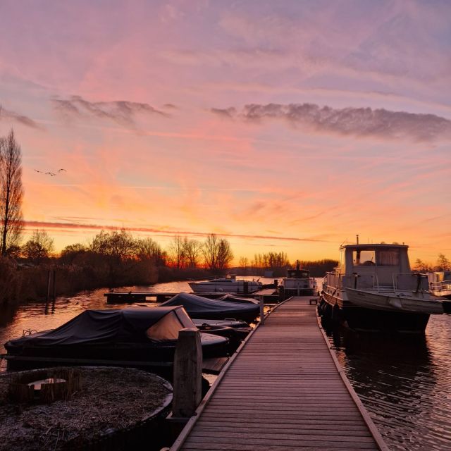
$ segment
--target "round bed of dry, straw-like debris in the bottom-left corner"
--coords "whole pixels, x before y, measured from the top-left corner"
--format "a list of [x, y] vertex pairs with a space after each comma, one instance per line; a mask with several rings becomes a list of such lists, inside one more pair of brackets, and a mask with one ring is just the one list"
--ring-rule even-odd
[[11, 402], [8, 386], [17, 376], [0, 377], [1, 451], [86, 449], [93, 440], [142, 423], [171, 400], [171, 386], [152, 373], [106, 367], [78, 371], [80, 393], [49, 404]]

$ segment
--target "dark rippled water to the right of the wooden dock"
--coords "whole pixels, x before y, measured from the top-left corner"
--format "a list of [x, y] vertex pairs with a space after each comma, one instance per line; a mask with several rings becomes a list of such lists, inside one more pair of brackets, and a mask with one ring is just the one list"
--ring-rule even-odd
[[450, 316], [432, 316], [419, 336], [327, 331], [392, 450], [451, 450], [450, 330]]

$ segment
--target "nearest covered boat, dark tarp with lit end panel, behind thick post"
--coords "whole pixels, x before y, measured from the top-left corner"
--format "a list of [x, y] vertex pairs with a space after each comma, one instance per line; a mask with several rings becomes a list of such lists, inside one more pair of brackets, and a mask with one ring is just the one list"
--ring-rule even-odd
[[[59, 365], [172, 366], [178, 332], [195, 328], [183, 307], [86, 310], [62, 326], [5, 343], [8, 369]], [[204, 357], [226, 354], [228, 340], [201, 334]]]

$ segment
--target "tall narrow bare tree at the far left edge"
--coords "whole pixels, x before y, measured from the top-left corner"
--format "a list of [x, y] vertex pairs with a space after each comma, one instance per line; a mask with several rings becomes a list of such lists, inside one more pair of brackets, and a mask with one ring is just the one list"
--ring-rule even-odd
[[16, 247], [22, 233], [22, 152], [14, 131], [0, 138], [0, 234], [1, 254]]

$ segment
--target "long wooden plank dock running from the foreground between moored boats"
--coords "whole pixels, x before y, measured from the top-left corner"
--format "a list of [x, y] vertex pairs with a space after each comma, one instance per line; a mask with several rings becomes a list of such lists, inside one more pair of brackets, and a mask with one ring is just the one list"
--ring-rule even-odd
[[266, 316], [221, 371], [171, 447], [388, 450], [330, 350], [311, 297]]

